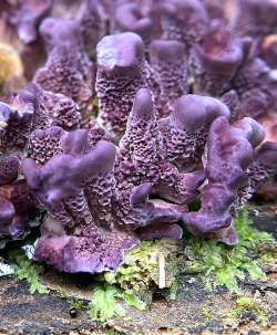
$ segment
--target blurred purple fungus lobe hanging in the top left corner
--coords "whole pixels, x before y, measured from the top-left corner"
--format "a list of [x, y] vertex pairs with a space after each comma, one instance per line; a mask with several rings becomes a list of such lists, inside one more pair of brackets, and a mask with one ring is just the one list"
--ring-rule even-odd
[[21, 0], [11, 21], [18, 27], [18, 35], [23, 43], [29, 44], [38, 39], [38, 25], [50, 12], [52, 0]]

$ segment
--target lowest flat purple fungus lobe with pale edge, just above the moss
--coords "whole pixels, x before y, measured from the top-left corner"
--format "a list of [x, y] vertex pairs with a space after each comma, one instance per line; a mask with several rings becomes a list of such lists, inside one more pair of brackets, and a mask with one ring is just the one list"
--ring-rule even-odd
[[60, 271], [99, 273], [114, 271], [123, 263], [124, 251], [138, 243], [134, 235], [121, 231], [83, 230], [79, 235], [53, 235], [39, 239], [35, 259]]

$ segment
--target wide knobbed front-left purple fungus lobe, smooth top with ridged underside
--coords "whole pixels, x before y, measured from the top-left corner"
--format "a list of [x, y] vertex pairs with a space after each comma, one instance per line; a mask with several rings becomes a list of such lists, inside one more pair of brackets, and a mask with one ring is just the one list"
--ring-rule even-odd
[[75, 220], [92, 222], [84, 186], [113, 168], [115, 148], [111, 143], [99, 142], [86, 150], [88, 134], [82, 129], [63, 134], [60, 146], [65, 153], [53, 156], [43, 166], [33, 159], [23, 161], [28, 185], [41, 206], [63, 224], [73, 224]]

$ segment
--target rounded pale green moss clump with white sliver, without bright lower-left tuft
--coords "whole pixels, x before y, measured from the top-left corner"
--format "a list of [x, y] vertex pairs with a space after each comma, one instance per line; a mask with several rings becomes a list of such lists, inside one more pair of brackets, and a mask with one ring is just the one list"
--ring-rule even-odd
[[175, 281], [179, 271], [177, 248], [171, 240], [142, 242], [126, 254], [124, 264], [115, 273], [105, 273], [104, 280], [117, 284], [125, 294], [135, 295], [147, 306], [158, 286], [171, 287]]

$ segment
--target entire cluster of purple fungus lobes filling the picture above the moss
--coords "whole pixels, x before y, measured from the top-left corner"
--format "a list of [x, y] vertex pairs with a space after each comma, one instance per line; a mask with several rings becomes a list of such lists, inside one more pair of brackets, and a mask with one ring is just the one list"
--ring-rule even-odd
[[0, 238], [43, 209], [35, 259], [71, 273], [184, 229], [235, 245], [236, 212], [277, 175], [277, 2], [39, 2], [4, 9], [45, 59], [1, 98]]

